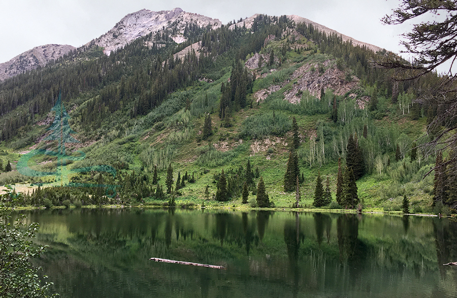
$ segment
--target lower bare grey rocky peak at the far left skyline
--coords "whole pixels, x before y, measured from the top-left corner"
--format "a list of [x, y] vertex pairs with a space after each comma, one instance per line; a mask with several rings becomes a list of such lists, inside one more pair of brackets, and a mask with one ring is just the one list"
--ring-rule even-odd
[[44, 45], [24, 52], [8, 62], [0, 64], [0, 81], [17, 76], [17, 74], [44, 66], [51, 60], [58, 59], [75, 50], [69, 45]]

